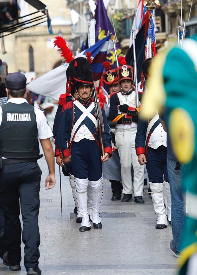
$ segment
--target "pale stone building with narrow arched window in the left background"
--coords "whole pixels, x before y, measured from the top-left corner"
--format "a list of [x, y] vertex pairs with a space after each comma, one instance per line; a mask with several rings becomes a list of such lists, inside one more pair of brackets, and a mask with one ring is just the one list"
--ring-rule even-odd
[[[18, 1], [19, 2], [19, 1]], [[70, 12], [64, 0], [43, 0], [48, 6], [53, 35], [49, 34], [47, 22], [19, 31], [4, 38], [5, 50], [1, 54], [2, 61], [7, 62], [8, 72], [35, 71], [39, 77], [61, 64], [59, 53], [53, 47], [56, 35], [62, 35], [65, 40], [71, 39]], [[29, 13], [36, 11], [29, 6]]]

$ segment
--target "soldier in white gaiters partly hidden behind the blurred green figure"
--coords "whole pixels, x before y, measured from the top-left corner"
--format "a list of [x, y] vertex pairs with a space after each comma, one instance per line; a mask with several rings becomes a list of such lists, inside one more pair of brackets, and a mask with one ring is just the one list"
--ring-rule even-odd
[[[149, 58], [142, 64], [145, 79], [149, 77], [148, 68], [151, 62], [152, 59]], [[148, 172], [154, 209], [158, 215], [155, 227], [157, 229], [166, 228], [167, 219], [171, 225], [171, 194], [167, 173], [166, 132], [160, 123], [158, 114], [147, 120], [141, 119], [139, 115], [135, 144], [138, 161], [141, 165], [146, 164]], [[167, 195], [166, 208], [163, 189]]]

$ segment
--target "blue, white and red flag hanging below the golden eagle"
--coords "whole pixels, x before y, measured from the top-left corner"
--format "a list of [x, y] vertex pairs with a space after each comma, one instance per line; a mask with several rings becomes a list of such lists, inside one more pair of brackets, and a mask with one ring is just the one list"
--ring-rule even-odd
[[150, 22], [146, 37], [146, 49], [145, 49], [145, 59], [150, 57], [155, 57], [157, 54], [156, 50], [156, 39], [155, 39], [155, 18], [153, 16], [153, 11], [150, 13]]

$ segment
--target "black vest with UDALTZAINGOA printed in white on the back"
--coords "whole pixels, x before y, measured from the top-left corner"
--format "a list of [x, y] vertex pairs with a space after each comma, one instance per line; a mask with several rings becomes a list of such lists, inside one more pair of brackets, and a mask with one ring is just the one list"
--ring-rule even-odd
[[0, 156], [13, 159], [38, 159], [39, 143], [34, 107], [28, 103], [2, 105]]

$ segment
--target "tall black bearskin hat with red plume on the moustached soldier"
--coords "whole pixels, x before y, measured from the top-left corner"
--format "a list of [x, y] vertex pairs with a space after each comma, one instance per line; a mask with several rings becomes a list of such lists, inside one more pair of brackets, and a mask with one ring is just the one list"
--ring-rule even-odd
[[61, 36], [56, 36], [54, 45], [58, 47], [61, 52], [61, 57], [64, 58], [69, 66], [66, 70], [66, 91], [71, 92], [74, 96], [75, 88], [80, 85], [93, 85], [93, 73], [92, 73], [92, 58], [91, 53], [86, 52], [85, 57], [74, 58], [69, 44]]

